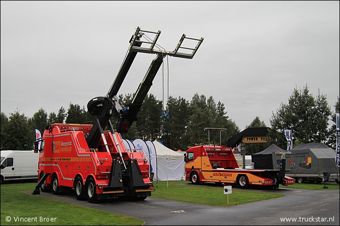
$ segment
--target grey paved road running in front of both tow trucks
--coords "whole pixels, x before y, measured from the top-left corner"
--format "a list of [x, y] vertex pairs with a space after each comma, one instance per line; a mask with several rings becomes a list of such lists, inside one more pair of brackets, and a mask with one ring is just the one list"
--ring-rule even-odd
[[[264, 191], [282, 193], [285, 196], [237, 206], [213, 207], [161, 200], [152, 196], [144, 201], [113, 200], [91, 204], [78, 201], [70, 194], [53, 195], [41, 192], [40, 195], [134, 216], [143, 219], [144, 225], [339, 225], [339, 190], [279, 188]], [[295, 217], [296, 222], [282, 222], [280, 218], [284, 217]], [[324, 218], [334, 221], [321, 221]]]

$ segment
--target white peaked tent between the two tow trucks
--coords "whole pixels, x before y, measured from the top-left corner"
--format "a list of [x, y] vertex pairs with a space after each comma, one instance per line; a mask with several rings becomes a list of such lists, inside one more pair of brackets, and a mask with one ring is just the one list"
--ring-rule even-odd
[[179, 181], [185, 179], [185, 162], [183, 154], [175, 152], [157, 140], [153, 142], [156, 149], [157, 164], [152, 173], [157, 181]]

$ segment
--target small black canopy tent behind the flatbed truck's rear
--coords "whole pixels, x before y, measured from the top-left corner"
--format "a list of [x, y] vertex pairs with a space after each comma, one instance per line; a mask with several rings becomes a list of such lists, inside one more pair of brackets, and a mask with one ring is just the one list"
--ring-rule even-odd
[[270, 169], [273, 170], [273, 152], [284, 151], [282, 148], [272, 144], [261, 152], [252, 154], [252, 162], [256, 169]]

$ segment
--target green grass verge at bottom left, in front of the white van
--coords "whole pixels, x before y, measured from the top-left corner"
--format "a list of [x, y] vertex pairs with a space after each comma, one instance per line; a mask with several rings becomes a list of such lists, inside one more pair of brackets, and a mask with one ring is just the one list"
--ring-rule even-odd
[[142, 225], [144, 223], [143, 220], [135, 217], [46, 199], [28, 193], [27, 191], [34, 190], [35, 185], [36, 183], [1, 185], [1, 225]]

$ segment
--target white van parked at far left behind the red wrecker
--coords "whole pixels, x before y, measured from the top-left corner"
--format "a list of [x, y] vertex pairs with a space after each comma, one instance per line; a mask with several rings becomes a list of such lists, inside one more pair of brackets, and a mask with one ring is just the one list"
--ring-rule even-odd
[[1, 151], [1, 183], [9, 180], [38, 179], [39, 154], [32, 151]]

